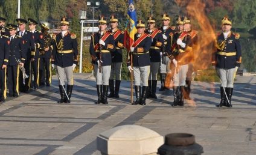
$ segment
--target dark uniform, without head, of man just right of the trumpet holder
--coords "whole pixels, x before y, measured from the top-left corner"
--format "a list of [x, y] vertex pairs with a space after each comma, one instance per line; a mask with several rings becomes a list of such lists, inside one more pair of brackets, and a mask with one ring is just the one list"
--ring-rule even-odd
[[[19, 32], [17, 32], [17, 35], [19, 35]], [[33, 33], [30, 31], [25, 30], [23, 36], [22, 37], [22, 43], [24, 44], [24, 48], [25, 50], [23, 52], [25, 52], [25, 70], [26, 70], [26, 74], [30, 75], [30, 69], [31, 69], [31, 63], [30, 63], [30, 59], [31, 59], [31, 55], [36, 51], [36, 47], [34, 44], [34, 39], [33, 39]], [[20, 73], [19, 75], [19, 88], [21, 88], [22, 92], [28, 92], [30, 90], [30, 85], [31, 85], [31, 76], [28, 77], [27, 79], [25, 79], [25, 85], [23, 84], [23, 79], [22, 79], [22, 73]]]

